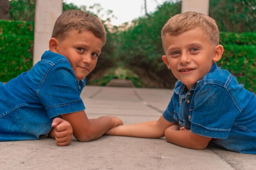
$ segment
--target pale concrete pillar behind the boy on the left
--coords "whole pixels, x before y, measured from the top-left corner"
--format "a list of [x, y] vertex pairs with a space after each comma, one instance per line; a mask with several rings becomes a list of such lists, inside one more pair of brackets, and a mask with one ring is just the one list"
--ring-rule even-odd
[[62, 13], [62, 0], [36, 0], [33, 65], [49, 50], [54, 23]]

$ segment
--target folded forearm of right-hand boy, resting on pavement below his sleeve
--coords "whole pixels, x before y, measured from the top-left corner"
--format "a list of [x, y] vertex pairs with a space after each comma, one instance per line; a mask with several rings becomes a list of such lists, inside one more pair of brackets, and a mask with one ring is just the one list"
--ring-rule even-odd
[[210, 137], [204, 137], [192, 133], [190, 130], [175, 131], [171, 128], [166, 129], [165, 138], [167, 142], [183, 146], [185, 148], [203, 150], [208, 146]]

